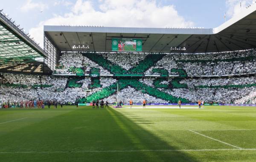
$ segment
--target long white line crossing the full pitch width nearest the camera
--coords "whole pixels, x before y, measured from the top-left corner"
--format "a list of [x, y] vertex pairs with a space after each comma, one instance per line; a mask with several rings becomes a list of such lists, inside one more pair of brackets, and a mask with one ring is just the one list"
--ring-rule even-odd
[[256, 148], [241, 148], [241, 149], [184, 149], [184, 150], [84, 150], [84, 151], [16, 151], [16, 152], [0, 152], [4, 153], [103, 153], [103, 152], [189, 152], [189, 151], [256, 151]]

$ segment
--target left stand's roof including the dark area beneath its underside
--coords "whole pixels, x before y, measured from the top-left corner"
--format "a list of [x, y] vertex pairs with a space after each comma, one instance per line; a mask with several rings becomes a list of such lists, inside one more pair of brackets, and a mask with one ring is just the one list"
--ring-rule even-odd
[[0, 71], [50, 74], [47, 53], [0, 11]]

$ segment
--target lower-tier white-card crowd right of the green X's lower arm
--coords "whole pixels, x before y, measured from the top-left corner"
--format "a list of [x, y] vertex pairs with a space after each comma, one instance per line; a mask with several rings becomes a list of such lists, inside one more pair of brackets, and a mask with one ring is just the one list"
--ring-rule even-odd
[[[140, 79], [146, 85], [155, 87], [156, 79]], [[186, 98], [191, 102], [202, 99], [205, 102], [218, 103], [256, 103], [256, 77], [224, 77], [224, 78], [185, 78], [179, 84], [186, 88], [172, 88], [174, 78], [166, 78], [160, 82], [168, 88], [157, 88], [175, 97]], [[250, 102], [248, 102], [250, 101]]]

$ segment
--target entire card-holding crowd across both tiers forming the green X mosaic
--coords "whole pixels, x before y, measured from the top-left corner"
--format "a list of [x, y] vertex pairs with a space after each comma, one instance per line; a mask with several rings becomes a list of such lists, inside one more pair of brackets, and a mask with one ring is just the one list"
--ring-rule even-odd
[[[0, 73], [0, 102], [56, 101], [75, 104], [79, 99], [126, 102], [146, 99], [167, 103], [177, 99], [197, 102], [256, 103], [255, 50], [221, 54], [62, 53], [55, 74]], [[160, 56], [160, 57], [159, 57]], [[68, 76], [74, 73], [94, 77]], [[97, 74], [163, 74], [166, 77], [99, 77]], [[242, 77], [212, 75], [241, 74]], [[246, 75], [243, 75], [246, 74]], [[183, 78], [168, 77], [179, 75]], [[207, 75], [208, 77], [196, 77]], [[193, 77], [194, 76], [194, 77]], [[137, 81], [136, 81], [137, 80]], [[122, 87], [123, 86], [123, 87]], [[100, 93], [99, 93], [100, 92]], [[168, 96], [169, 95], [169, 96]], [[86, 100], [87, 99], [87, 100]]]

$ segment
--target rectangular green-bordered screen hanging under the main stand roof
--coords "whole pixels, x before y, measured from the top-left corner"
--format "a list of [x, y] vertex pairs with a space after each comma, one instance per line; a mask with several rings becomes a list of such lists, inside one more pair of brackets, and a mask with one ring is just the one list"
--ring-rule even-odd
[[142, 51], [142, 40], [131, 38], [112, 38], [112, 51]]

